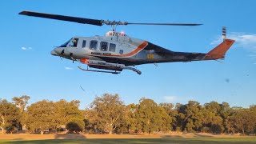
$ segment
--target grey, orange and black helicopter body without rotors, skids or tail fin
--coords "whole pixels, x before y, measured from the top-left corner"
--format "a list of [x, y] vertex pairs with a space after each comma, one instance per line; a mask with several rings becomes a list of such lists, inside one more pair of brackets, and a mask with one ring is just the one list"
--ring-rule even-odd
[[55, 48], [51, 54], [70, 60], [79, 59], [136, 66], [159, 62], [190, 62], [201, 60], [202, 53], [174, 52], [150, 42], [109, 31], [105, 36], [74, 37]]

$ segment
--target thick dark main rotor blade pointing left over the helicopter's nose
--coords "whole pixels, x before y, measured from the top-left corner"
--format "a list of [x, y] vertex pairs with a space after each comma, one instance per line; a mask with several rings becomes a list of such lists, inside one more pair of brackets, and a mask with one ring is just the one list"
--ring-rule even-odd
[[78, 17], [70, 17], [65, 15], [58, 15], [58, 14], [45, 14], [45, 13], [38, 13], [33, 11], [22, 11], [19, 14], [39, 17], [39, 18], [50, 18], [50, 19], [68, 21], [68, 22], [78, 22], [83, 24], [102, 26], [102, 20], [98, 20], [98, 19], [78, 18]]

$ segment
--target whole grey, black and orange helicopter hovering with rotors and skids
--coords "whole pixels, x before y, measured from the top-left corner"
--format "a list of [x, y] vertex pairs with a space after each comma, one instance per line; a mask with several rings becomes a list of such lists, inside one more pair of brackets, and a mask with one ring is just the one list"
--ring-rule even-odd
[[[78, 18], [58, 14], [46, 14], [33, 11], [22, 11], [19, 14], [39, 18], [50, 18], [67, 22], [78, 22], [94, 26], [109, 25], [112, 30], [104, 36], [74, 37], [50, 52], [54, 56], [86, 64], [87, 68], [78, 66], [80, 70], [120, 74], [122, 70], [142, 72], [134, 66], [161, 62], [192, 62], [218, 60], [224, 58], [226, 51], [234, 44], [234, 40], [226, 38], [226, 27], [222, 27], [223, 42], [208, 53], [177, 52], [155, 45], [146, 40], [132, 38], [117, 32], [120, 25], [153, 25], [153, 26], [200, 26], [202, 24], [186, 23], [138, 23]], [[90, 68], [90, 69], [89, 69]], [[93, 68], [93, 69], [92, 69]]]

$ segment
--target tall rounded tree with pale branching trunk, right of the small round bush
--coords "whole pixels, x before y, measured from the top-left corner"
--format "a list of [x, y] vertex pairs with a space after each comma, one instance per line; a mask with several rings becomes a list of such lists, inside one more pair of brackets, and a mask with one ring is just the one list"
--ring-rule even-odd
[[125, 122], [126, 106], [118, 94], [103, 94], [102, 97], [96, 97], [90, 104], [90, 109], [86, 111], [86, 119], [97, 126], [95, 129], [104, 133], [112, 134]]

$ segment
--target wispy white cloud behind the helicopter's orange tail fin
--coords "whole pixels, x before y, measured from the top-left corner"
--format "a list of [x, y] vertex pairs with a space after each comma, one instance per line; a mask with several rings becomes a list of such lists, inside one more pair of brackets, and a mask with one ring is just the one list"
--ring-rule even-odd
[[[234, 39], [236, 42], [234, 46], [239, 48], [245, 48], [256, 53], [256, 34], [245, 33], [231, 33], [227, 34], [226, 38]], [[216, 45], [222, 42], [222, 36], [211, 42], [211, 45]]]

